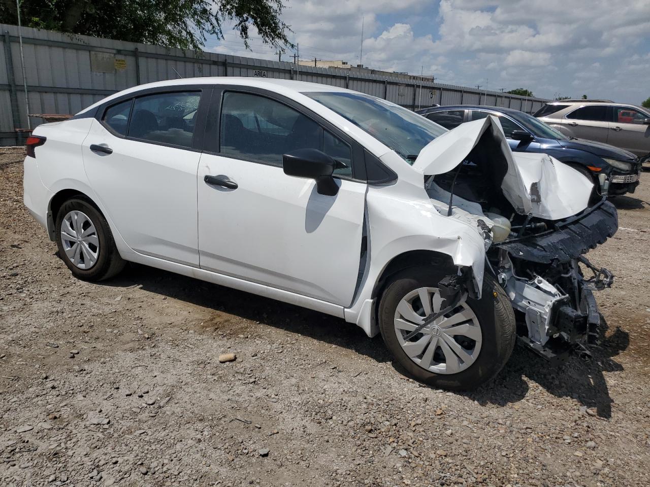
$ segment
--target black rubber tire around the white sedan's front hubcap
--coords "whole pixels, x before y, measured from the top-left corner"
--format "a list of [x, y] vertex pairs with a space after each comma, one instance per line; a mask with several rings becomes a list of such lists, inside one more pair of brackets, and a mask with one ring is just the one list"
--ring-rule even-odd
[[469, 368], [458, 373], [433, 373], [415, 364], [398, 342], [395, 311], [409, 292], [422, 287], [437, 287], [444, 277], [439, 268], [422, 266], [397, 273], [385, 287], [379, 305], [379, 327], [383, 341], [400, 366], [414, 379], [436, 388], [470, 390], [492, 379], [508, 362], [515, 346], [515, 316], [510, 299], [491, 275], [483, 278], [481, 299], [467, 298], [467, 305], [478, 318], [482, 345], [478, 357]]

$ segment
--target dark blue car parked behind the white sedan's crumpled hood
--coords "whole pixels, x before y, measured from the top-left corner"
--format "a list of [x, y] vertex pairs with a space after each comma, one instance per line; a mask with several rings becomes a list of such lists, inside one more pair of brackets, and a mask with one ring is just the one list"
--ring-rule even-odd
[[[497, 106], [439, 106], [418, 112], [426, 118], [453, 129], [465, 121], [499, 118], [510, 148], [515, 152], [541, 152], [569, 164], [595, 184], [599, 194], [634, 193], [639, 184], [641, 163], [638, 158], [612, 145], [570, 138], [534, 116]], [[602, 176], [604, 175], [604, 177]]]

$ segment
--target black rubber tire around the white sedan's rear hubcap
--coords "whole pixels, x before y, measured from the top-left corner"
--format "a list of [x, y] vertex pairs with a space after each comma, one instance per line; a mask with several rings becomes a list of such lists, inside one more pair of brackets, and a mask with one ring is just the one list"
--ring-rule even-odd
[[[80, 211], [88, 216], [97, 232], [99, 240], [98, 256], [94, 265], [88, 269], [80, 269], [75, 266], [64, 249], [61, 238], [61, 225], [65, 216], [71, 211]], [[126, 264], [120, 253], [118, 253], [108, 222], [101, 212], [83, 197], [69, 199], [60, 206], [55, 224], [55, 238], [59, 247], [59, 256], [66, 263], [68, 269], [72, 271], [72, 274], [83, 281], [96, 282], [110, 279], [120, 273]]]

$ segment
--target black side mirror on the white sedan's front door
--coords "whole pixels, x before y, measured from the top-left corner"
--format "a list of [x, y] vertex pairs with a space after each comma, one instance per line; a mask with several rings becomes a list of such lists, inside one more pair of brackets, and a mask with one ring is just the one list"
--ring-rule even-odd
[[319, 194], [334, 196], [339, 192], [332, 177], [336, 161], [318, 149], [298, 149], [285, 154], [282, 166], [286, 175], [315, 179]]

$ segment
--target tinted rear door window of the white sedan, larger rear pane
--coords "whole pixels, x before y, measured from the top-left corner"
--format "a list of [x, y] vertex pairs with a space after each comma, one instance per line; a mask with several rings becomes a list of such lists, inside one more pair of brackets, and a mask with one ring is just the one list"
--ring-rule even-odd
[[192, 147], [200, 99], [200, 92], [161, 93], [136, 98], [128, 136]]

